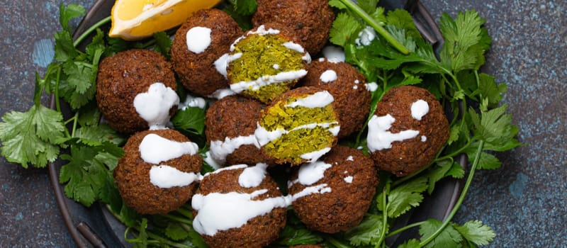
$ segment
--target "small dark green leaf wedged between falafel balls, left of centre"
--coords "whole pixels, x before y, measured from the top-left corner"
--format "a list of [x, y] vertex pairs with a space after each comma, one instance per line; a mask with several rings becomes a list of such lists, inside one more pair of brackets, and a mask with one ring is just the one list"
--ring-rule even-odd
[[196, 135], [202, 135], [205, 129], [205, 114], [203, 108], [187, 107], [177, 113], [172, 118], [172, 123], [176, 129]]

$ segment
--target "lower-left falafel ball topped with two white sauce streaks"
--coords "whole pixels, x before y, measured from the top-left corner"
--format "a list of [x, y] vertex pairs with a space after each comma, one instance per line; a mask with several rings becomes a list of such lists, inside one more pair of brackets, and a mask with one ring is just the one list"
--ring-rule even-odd
[[165, 214], [196, 191], [203, 159], [198, 147], [176, 130], [132, 135], [118, 159], [114, 180], [126, 205], [141, 214]]

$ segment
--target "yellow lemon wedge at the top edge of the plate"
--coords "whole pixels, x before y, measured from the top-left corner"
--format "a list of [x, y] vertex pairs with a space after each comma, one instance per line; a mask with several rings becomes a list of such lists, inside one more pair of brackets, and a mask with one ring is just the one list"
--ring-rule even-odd
[[192, 13], [220, 0], [117, 0], [112, 7], [110, 37], [140, 40], [179, 26]]

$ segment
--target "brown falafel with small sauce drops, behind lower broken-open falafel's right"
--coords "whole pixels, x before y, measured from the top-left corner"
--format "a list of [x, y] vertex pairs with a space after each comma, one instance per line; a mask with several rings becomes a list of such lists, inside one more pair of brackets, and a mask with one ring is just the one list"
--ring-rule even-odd
[[339, 138], [360, 130], [370, 111], [371, 93], [366, 78], [352, 65], [325, 59], [315, 60], [301, 80], [303, 86], [318, 86], [329, 91], [339, 115]]

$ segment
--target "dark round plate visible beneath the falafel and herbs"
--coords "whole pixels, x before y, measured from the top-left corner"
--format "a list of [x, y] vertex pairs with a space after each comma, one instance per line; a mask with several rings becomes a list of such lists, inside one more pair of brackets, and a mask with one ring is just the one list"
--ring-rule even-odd
[[[84, 16], [77, 30], [75, 30], [74, 38], [79, 37], [87, 28], [93, 26], [98, 21], [110, 16], [114, 2], [115, 0], [96, 1], [86, 13], [86, 16]], [[406, 9], [410, 11], [423, 37], [436, 48], [442, 43], [442, 35], [439, 32], [439, 28], [437, 28], [430, 13], [427, 12], [427, 9], [425, 9], [420, 1], [383, 0], [380, 1], [380, 5], [386, 9]], [[54, 101], [52, 101], [52, 108], [54, 108], [54, 106]], [[62, 110], [64, 112], [67, 111], [64, 115], [70, 116], [72, 114], [69, 106], [62, 106]], [[464, 155], [457, 157], [456, 161], [463, 167], [467, 165]], [[69, 228], [69, 232], [77, 243], [77, 246], [130, 247], [130, 244], [124, 240], [125, 226], [118, 222], [118, 220], [106, 210], [106, 206], [94, 203], [91, 207], [85, 208], [83, 205], [64, 196], [63, 185], [59, 184], [59, 174], [62, 165], [63, 162], [60, 160], [49, 164], [50, 179], [64, 222]], [[419, 208], [398, 218], [398, 222], [394, 223], [393, 228], [397, 229], [397, 227], [402, 227], [407, 223], [427, 220], [429, 218], [444, 220], [453, 209], [462, 187], [463, 183], [459, 180], [444, 179], [443, 181], [439, 181], [437, 186], [435, 186], [434, 193], [431, 196], [426, 196]], [[388, 238], [386, 242], [395, 247], [404, 240], [417, 237], [417, 235], [417, 230], [409, 230], [403, 232], [401, 235]]]

